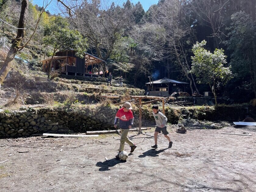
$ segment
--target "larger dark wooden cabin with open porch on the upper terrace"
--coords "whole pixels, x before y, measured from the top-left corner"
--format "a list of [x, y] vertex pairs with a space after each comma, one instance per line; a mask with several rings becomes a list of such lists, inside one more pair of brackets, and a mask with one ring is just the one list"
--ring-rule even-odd
[[84, 58], [77, 57], [75, 53], [73, 50], [59, 51], [55, 53], [53, 62], [52, 57], [41, 60], [43, 71], [48, 72], [49, 63], [52, 62], [51, 70], [60, 70], [66, 75], [99, 76], [101, 74], [98, 74], [98, 71], [100, 71], [100, 64], [105, 62], [104, 60], [87, 52], [84, 53]]

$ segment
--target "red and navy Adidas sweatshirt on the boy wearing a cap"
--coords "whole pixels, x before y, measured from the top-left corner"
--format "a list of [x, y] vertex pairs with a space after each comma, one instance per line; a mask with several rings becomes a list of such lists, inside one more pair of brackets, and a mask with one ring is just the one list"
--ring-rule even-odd
[[119, 121], [119, 126], [122, 129], [129, 129], [129, 125], [132, 126], [133, 125], [133, 112], [131, 110], [129, 110], [128, 112], [124, 112], [123, 107], [120, 108], [118, 110], [118, 112], [116, 113], [116, 118], [115, 118], [115, 123], [114, 125], [117, 124], [118, 119], [120, 119]]

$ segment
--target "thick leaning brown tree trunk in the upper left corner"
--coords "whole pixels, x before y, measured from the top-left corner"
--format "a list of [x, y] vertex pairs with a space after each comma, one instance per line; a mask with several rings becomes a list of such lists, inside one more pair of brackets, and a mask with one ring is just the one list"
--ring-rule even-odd
[[9, 52], [7, 53], [7, 57], [5, 58], [5, 61], [0, 70], [0, 87], [10, 70], [11, 62], [14, 59], [14, 57], [15, 57], [16, 53], [18, 52], [19, 47], [23, 41], [23, 37], [24, 37], [24, 29], [23, 28], [24, 28], [25, 21], [26, 21], [27, 9], [28, 9], [28, 0], [23, 0], [21, 3], [20, 20], [19, 20], [19, 24], [18, 24], [19, 29], [17, 31], [17, 36], [15, 39], [12, 40], [12, 46], [11, 46]]

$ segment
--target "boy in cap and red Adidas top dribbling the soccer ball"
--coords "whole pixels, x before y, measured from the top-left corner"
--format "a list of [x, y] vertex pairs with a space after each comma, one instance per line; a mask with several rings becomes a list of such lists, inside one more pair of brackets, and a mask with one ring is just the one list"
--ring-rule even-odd
[[[131, 111], [132, 106], [130, 102], [126, 102], [123, 104], [123, 107], [118, 110], [116, 113], [115, 123], [114, 126], [116, 128], [118, 119], [119, 119], [119, 126], [121, 130], [121, 138], [120, 138], [120, 147], [119, 153], [123, 151], [124, 142], [130, 145], [132, 153], [137, 146], [133, 144], [133, 142], [127, 137], [129, 129], [132, 128], [133, 125], [133, 112]], [[116, 158], [119, 158], [119, 153], [116, 155]]]

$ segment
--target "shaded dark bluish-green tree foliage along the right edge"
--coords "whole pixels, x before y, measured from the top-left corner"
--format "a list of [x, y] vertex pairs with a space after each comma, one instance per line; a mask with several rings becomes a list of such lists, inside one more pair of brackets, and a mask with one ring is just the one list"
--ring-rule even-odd
[[[256, 22], [245, 12], [236, 12], [231, 16], [228, 49], [232, 51], [230, 64], [240, 80], [250, 79], [256, 95]], [[251, 77], [251, 78], [247, 78]]]

